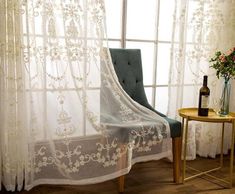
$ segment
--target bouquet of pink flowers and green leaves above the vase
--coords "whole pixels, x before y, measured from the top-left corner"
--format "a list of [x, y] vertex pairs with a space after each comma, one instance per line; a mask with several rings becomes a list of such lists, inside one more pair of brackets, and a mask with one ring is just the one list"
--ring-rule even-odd
[[217, 51], [209, 62], [212, 63], [210, 67], [216, 70], [218, 78], [223, 77], [225, 81], [235, 78], [235, 47], [229, 49], [226, 54]]

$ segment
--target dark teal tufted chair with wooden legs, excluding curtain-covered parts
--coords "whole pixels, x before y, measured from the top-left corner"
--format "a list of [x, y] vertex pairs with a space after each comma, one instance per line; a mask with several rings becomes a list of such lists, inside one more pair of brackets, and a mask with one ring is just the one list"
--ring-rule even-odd
[[[149, 103], [144, 91], [141, 52], [139, 49], [110, 49], [112, 62], [118, 80], [125, 92], [136, 102], [166, 119], [170, 125], [173, 152], [173, 179], [180, 182], [181, 166], [181, 123], [168, 118], [155, 110]], [[124, 191], [124, 176], [119, 177], [119, 192]]]

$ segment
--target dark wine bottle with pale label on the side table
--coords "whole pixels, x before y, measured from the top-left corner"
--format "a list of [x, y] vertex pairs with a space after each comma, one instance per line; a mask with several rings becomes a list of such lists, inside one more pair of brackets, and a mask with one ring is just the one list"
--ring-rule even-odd
[[203, 86], [199, 91], [198, 115], [208, 116], [210, 89], [207, 87], [207, 75], [203, 77]]

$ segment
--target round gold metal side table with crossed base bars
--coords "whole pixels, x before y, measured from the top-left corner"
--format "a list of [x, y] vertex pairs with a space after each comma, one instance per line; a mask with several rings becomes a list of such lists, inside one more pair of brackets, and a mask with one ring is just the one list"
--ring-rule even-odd
[[[208, 116], [198, 116], [198, 109], [197, 108], [182, 108], [178, 110], [179, 115], [182, 117], [182, 131], [184, 137], [184, 147], [183, 147], [183, 172], [182, 172], [182, 181], [183, 183], [187, 180], [192, 178], [207, 175], [211, 178], [219, 180], [228, 184], [229, 188], [232, 188], [232, 176], [233, 176], [233, 159], [234, 159], [234, 133], [235, 133], [235, 113], [230, 112], [229, 115], [222, 117], [217, 115], [213, 110], [209, 110]], [[200, 121], [200, 122], [212, 122], [212, 123], [222, 123], [222, 136], [221, 136], [221, 152], [220, 152], [220, 165], [216, 168], [207, 170], [207, 171], [200, 171], [194, 169], [192, 167], [188, 167], [189, 169], [195, 170], [197, 174], [186, 177], [186, 146], [187, 146], [187, 136], [188, 136], [188, 123], [189, 121]], [[223, 166], [223, 144], [224, 144], [224, 124], [231, 123], [232, 124], [232, 136], [231, 136], [231, 153], [230, 153], [230, 168], [229, 168], [229, 181], [225, 179], [218, 178], [209, 174], [210, 172], [219, 170]], [[184, 127], [185, 126], [185, 127]]]

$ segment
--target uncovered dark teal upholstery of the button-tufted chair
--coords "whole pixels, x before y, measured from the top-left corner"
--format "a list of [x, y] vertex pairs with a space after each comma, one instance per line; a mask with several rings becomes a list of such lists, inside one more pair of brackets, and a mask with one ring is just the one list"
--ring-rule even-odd
[[140, 49], [110, 49], [118, 80], [125, 92], [136, 102], [164, 117], [171, 130], [171, 137], [181, 136], [181, 123], [155, 110], [145, 94]]

